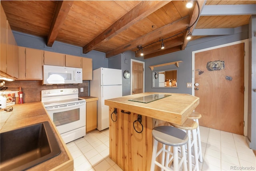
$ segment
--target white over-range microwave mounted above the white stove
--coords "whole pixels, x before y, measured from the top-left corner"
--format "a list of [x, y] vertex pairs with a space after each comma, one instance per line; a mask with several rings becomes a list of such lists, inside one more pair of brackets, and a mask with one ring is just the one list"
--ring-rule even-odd
[[82, 68], [65, 66], [43, 66], [42, 84], [80, 84], [83, 83]]

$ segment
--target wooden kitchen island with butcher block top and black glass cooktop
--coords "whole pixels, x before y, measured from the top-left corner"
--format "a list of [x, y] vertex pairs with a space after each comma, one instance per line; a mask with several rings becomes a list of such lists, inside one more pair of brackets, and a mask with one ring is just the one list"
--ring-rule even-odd
[[124, 171], [150, 170], [152, 129], [168, 122], [184, 123], [198, 104], [198, 97], [180, 93], [147, 92], [105, 100], [109, 157]]

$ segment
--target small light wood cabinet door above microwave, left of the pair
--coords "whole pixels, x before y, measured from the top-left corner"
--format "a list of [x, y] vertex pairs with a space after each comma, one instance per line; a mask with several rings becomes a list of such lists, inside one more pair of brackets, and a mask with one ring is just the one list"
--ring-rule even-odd
[[66, 66], [65, 54], [44, 51], [44, 65]]

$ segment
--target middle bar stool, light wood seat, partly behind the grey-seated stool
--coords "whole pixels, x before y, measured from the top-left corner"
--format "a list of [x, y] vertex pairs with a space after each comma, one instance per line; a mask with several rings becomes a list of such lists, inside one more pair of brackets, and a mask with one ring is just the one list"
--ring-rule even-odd
[[[170, 125], [179, 128], [184, 129], [187, 132], [188, 135], [188, 170], [189, 171], [199, 171], [199, 165], [198, 165], [198, 149], [197, 149], [197, 136], [196, 136], [196, 129], [198, 127], [198, 123], [196, 121], [193, 121], [192, 119], [187, 119], [182, 125], [178, 125], [175, 123], [170, 123]], [[191, 139], [191, 133], [192, 133], [192, 139]], [[192, 147], [194, 149], [194, 159], [195, 159], [195, 165], [192, 169]]]

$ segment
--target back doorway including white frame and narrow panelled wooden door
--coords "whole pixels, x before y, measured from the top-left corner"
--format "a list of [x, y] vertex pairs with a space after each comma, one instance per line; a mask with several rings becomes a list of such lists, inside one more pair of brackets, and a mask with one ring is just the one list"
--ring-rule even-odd
[[145, 62], [131, 59], [131, 94], [144, 93]]

